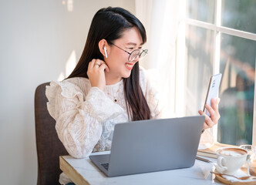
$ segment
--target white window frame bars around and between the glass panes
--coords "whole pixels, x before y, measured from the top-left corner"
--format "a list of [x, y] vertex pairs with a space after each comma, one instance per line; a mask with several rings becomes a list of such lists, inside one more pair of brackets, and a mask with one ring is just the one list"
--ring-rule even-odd
[[[175, 92], [175, 113], [177, 116], [184, 115], [184, 86], [180, 86], [180, 83], [185, 82], [186, 79], [186, 69], [187, 66], [185, 64], [185, 27], [186, 25], [194, 25], [199, 28], [212, 30], [214, 31], [214, 64], [213, 64], [213, 74], [219, 73], [220, 69], [220, 51], [221, 51], [221, 33], [227, 35], [233, 35], [244, 39], [250, 39], [256, 41], [256, 34], [251, 32], [244, 32], [237, 29], [231, 29], [224, 26], [221, 26], [221, 5], [222, 0], [215, 0], [215, 9], [214, 9], [214, 24], [208, 22], [198, 21], [192, 18], [186, 18], [186, 1], [184, 0], [181, 7], [184, 7], [180, 14], [179, 21], [179, 31], [177, 35], [177, 43], [176, 43], [176, 78], [173, 81], [176, 84], [176, 92]], [[183, 52], [182, 52], [183, 51]], [[256, 58], [255, 58], [255, 69], [256, 69]], [[254, 82], [256, 82], [256, 76], [254, 76]], [[253, 130], [252, 130], [252, 144], [256, 145], [256, 86], [254, 86], [254, 116], [253, 116]], [[217, 126], [214, 126], [211, 129], [211, 132], [214, 135], [215, 140], [217, 140]]]

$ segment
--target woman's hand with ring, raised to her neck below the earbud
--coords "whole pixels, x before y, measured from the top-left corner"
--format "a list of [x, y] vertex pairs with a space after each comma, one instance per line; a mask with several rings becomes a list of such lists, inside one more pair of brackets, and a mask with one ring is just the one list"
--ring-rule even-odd
[[99, 89], [104, 90], [106, 86], [105, 71], [109, 72], [109, 67], [106, 66], [106, 62], [100, 59], [93, 59], [89, 62], [87, 75], [92, 87], [96, 86]]

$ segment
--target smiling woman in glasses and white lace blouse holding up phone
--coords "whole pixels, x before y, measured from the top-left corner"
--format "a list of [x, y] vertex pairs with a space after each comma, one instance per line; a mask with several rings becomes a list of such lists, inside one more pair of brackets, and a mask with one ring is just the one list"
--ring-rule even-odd
[[[59, 139], [76, 158], [110, 150], [115, 123], [160, 118], [156, 93], [139, 59], [146, 31], [123, 8], [102, 8], [93, 17], [83, 54], [71, 75], [46, 89]], [[217, 101], [206, 108], [204, 129], [219, 119]], [[204, 114], [203, 112], [199, 112]], [[60, 183], [68, 183], [62, 174]]]

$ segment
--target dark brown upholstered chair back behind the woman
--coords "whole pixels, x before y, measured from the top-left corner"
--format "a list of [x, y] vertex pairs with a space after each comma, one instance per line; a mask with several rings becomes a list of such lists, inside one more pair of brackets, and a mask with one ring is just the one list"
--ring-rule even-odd
[[43, 83], [35, 89], [35, 138], [38, 157], [38, 185], [59, 184], [59, 156], [68, 155], [65, 147], [57, 136], [56, 121], [49, 115], [46, 107]]

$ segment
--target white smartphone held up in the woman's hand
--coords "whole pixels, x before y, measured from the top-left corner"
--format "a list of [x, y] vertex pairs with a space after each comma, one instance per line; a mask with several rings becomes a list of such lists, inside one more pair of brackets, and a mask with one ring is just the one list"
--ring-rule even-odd
[[218, 96], [218, 92], [219, 92], [219, 88], [220, 88], [220, 84], [221, 84], [221, 77], [222, 74], [217, 74], [214, 76], [211, 76], [210, 82], [209, 82], [209, 86], [208, 86], [208, 90], [207, 90], [207, 96], [205, 99], [205, 103], [204, 103], [204, 113], [207, 114], [207, 116], [211, 116], [210, 113], [207, 111], [207, 109], [205, 109], [205, 104], [208, 104], [211, 106], [211, 99], [216, 99]]

